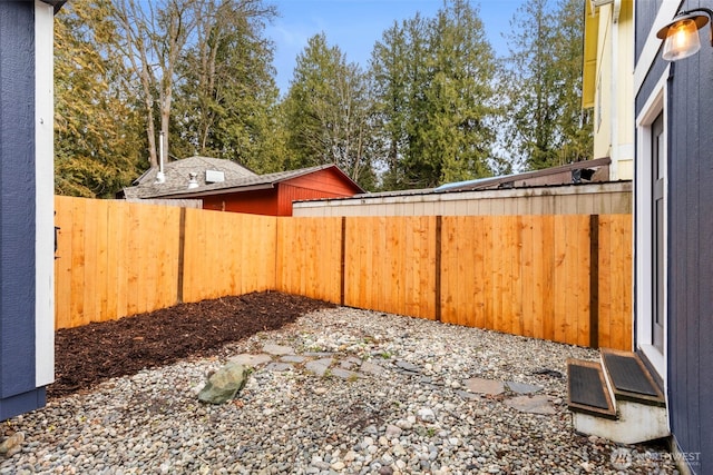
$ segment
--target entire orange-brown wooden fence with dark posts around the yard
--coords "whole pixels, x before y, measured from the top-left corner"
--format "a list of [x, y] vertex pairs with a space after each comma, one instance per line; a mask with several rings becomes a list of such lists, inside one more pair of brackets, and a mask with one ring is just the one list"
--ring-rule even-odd
[[275, 218], [57, 197], [57, 327], [280, 290], [631, 349], [631, 215]]

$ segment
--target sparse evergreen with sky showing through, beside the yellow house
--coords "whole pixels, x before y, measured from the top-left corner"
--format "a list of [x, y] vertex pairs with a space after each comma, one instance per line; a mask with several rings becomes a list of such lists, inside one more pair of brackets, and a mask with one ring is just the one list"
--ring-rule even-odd
[[524, 3], [511, 21], [504, 97], [505, 148], [528, 169], [586, 159], [592, 127], [580, 113], [583, 18], [576, 0], [555, 9], [548, 0]]

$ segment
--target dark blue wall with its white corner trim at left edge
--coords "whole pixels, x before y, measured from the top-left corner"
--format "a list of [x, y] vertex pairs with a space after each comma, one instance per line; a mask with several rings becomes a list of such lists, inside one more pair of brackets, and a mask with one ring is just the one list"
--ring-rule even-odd
[[0, 2], [0, 419], [41, 407], [53, 378], [52, 10]]

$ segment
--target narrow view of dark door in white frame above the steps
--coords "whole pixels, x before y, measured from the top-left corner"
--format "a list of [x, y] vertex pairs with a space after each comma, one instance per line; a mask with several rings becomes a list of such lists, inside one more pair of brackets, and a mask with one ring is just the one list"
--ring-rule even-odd
[[664, 321], [665, 309], [665, 236], [664, 236], [664, 212], [666, 209], [664, 199], [664, 180], [666, 177], [666, 152], [664, 150], [664, 116], [660, 113], [652, 125], [652, 189], [653, 189], [653, 266], [652, 278], [654, 290], [653, 296], [653, 319], [652, 319], [652, 344], [662, 354], [664, 353]]

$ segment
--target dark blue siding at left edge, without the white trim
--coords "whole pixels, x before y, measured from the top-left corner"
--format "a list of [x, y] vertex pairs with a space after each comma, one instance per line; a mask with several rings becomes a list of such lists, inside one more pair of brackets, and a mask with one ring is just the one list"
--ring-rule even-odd
[[36, 388], [35, 2], [0, 2], [0, 420]]

